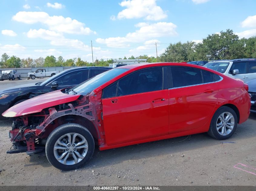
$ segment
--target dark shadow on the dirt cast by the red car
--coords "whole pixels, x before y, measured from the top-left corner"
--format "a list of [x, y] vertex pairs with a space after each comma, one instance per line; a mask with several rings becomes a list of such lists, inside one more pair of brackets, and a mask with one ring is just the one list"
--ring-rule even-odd
[[[251, 113], [249, 119], [256, 120], [256, 113]], [[236, 132], [228, 139], [228, 141], [234, 141], [237, 142], [236, 144], [239, 144], [239, 140], [241, 139], [256, 137], [256, 131], [254, 128], [255, 127], [251, 125], [251, 122], [246, 121], [241, 125], [238, 125]], [[188, 150], [198, 148], [201, 148], [203, 151], [204, 148], [206, 149], [208, 146], [220, 145], [221, 143], [221, 140], [211, 138], [207, 133], [199, 133], [190, 136], [147, 142], [105, 151], [99, 151], [98, 147], [95, 147], [91, 160], [84, 167], [81, 167], [81, 169], [90, 170], [95, 168], [94, 165], [97, 168], [109, 167], [128, 160], [141, 160], [143, 162], [143, 160], [147, 160], [147, 158], [172, 153], [184, 153]], [[30, 157], [29, 161], [31, 164], [28, 164], [27, 166], [51, 166], [46, 156], [35, 154]]]

